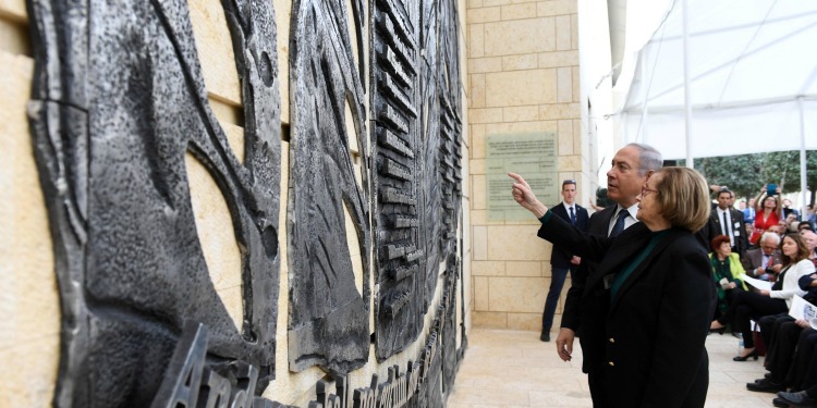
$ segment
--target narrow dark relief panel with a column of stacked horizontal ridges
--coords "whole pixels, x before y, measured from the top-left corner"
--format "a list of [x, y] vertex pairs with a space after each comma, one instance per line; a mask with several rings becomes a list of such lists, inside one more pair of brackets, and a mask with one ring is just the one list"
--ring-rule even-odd
[[378, 0], [371, 12], [373, 188], [375, 190], [376, 353], [405, 349], [423, 329], [426, 254], [418, 211], [419, 2]]

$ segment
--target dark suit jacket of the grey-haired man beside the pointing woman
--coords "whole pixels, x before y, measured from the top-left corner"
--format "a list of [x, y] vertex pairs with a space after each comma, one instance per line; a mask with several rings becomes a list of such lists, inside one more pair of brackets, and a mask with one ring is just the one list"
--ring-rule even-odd
[[[610, 227], [610, 220], [615, 214], [618, 206], [609, 206], [601, 211], [594, 212], [590, 215], [590, 220], [587, 223], [587, 233], [598, 236], [607, 236], [607, 230]], [[597, 267], [597, 262], [588, 259], [583, 259], [582, 263], [576, 269], [575, 273], [571, 279], [571, 286], [568, 289], [568, 296], [564, 298], [564, 309], [562, 310], [562, 327], [572, 330], [575, 333], [580, 333], [581, 320], [578, 317], [578, 304], [584, 293], [585, 283], [587, 275]], [[580, 343], [582, 336], [578, 336]], [[582, 343], [584, 347], [584, 343]], [[585, 371], [586, 372], [586, 371]]]

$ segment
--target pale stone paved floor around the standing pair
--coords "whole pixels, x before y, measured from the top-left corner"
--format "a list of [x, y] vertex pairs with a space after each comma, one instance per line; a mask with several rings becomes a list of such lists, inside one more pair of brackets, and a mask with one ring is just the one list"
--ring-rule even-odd
[[[737, 338], [728, 333], [708, 336], [706, 346], [710, 370], [706, 407], [772, 407], [773, 394], [746, 391], [745, 383], [763, 376], [763, 358], [732, 361]], [[540, 342], [538, 332], [473, 329], [448, 407], [593, 407], [581, 348], [574, 348], [573, 355], [571, 362], [562, 362], [553, 343]]]

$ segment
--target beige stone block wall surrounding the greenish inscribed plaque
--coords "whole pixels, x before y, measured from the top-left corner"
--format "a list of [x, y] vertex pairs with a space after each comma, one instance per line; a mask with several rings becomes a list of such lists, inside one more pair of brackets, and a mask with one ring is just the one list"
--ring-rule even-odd
[[[558, 135], [559, 180], [587, 181], [578, 91], [577, 0], [470, 0], [472, 290], [475, 326], [539, 330], [550, 285], [550, 244], [538, 222], [491, 222], [486, 211], [485, 138]], [[510, 188], [509, 188], [509, 200]], [[586, 207], [587, 198], [577, 197]], [[553, 205], [547, 202], [546, 205]], [[565, 282], [553, 326], [570, 287]]]

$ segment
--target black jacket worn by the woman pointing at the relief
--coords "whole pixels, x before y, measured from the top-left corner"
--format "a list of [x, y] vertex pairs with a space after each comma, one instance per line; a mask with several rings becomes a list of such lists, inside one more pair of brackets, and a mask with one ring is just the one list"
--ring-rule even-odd
[[703, 407], [705, 343], [716, 293], [707, 252], [693, 234], [669, 231], [610, 301], [605, 276], [625, 268], [649, 243], [643, 223], [617, 238], [583, 234], [557, 217], [539, 237], [600, 261], [580, 302], [585, 372], [605, 373], [612, 407]]

